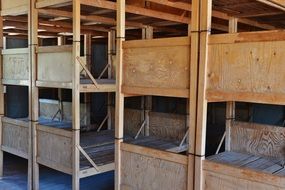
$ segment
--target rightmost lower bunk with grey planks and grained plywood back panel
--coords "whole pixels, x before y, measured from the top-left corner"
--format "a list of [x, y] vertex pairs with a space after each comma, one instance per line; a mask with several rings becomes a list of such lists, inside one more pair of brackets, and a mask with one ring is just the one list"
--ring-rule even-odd
[[232, 121], [230, 147], [203, 161], [204, 189], [284, 190], [285, 128]]

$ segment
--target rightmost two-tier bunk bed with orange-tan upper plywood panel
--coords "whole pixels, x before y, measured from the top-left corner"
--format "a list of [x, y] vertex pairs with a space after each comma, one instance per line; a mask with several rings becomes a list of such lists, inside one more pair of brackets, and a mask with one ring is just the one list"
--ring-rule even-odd
[[[211, 35], [207, 101], [284, 105], [284, 34]], [[284, 189], [284, 127], [238, 122], [234, 114], [227, 117], [226, 152], [203, 162], [205, 189]]]

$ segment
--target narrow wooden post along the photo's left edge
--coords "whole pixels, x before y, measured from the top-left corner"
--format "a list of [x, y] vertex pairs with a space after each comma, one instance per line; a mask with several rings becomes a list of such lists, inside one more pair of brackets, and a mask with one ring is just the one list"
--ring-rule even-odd
[[[2, 6], [0, 5], [2, 8]], [[4, 45], [4, 38], [3, 38], [3, 17], [0, 16], [0, 51], [2, 52]], [[0, 147], [2, 147], [3, 139], [2, 139], [2, 117], [4, 116], [4, 86], [2, 83], [3, 78], [3, 57], [2, 53], [0, 53]], [[0, 177], [3, 176], [3, 151], [0, 148]]]

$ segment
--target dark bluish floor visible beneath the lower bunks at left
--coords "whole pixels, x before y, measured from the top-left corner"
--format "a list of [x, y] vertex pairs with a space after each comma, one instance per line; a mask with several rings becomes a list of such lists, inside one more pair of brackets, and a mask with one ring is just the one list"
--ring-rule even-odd
[[[0, 179], [1, 190], [25, 190], [27, 186], [27, 160], [6, 154], [4, 156], [4, 177]], [[41, 190], [70, 190], [70, 175], [40, 167]], [[81, 190], [113, 190], [114, 173], [107, 172], [80, 180]]]

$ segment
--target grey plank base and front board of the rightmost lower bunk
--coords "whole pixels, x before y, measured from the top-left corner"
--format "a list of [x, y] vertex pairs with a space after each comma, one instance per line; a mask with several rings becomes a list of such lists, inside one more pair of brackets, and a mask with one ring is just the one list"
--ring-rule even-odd
[[204, 161], [204, 189], [283, 190], [284, 160], [223, 152]]

